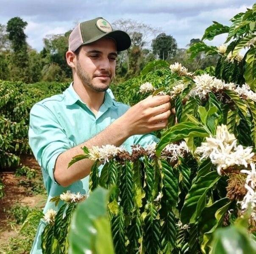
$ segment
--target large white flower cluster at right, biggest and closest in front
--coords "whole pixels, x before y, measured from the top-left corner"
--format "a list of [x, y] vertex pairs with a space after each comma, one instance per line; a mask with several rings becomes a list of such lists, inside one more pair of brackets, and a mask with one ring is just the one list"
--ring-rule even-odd
[[234, 134], [230, 134], [227, 126], [223, 124], [217, 127], [216, 136], [206, 138], [206, 142], [203, 142], [195, 153], [201, 154], [201, 160], [210, 157], [211, 162], [217, 165], [220, 175], [223, 170], [234, 165], [247, 168], [254, 155], [251, 147], [243, 148], [242, 145], [237, 145]]

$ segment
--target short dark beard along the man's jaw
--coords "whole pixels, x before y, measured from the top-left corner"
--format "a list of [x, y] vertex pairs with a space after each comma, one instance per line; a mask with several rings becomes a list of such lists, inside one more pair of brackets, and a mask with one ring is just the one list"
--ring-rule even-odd
[[109, 74], [110, 77], [111, 77], [109, 85], [106, 85], [105, 87], [101, 87], [101, 86], [97, 86], [97, 85], [92, 83], [92, 77], [90, 77], [90, 75], [82, 68], [79, 60], [77, 61], [77, 66], [76, 67], [77, 67], [77, 69], [76, 69], [77, 75], [80, 78], [80, 80], [82, 81], [83, 86], [85, 88], [89, 87], [93, 91], [97, 91], [97, 92], [104, 92], [104, 91], [108, 90], [108, 88], [110, 86], [110, 83], [113, 80], [113, 76], [111, 74]]

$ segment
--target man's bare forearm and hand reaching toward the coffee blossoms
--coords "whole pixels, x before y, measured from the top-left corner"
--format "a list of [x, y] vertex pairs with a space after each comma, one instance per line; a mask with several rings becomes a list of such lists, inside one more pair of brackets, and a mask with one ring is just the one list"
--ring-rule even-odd
[[169, 116], [169, 96], [148, 97], [142, 100], [93, 138], [61, 153], [56, 160], [54, 178], [60, 185], [66, 187], [89, 175], [93, 164], [89, 159], [80, 160], [68, 168], [72, 157], [82, 153], [81, 147], [91, 148], [106, 144], [120, 146], [132, 135], [165, 128]]

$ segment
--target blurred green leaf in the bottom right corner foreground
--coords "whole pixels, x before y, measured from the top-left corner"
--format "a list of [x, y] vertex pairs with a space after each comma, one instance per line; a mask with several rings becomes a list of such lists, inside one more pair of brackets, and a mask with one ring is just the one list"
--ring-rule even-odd
[[212, 254], [256, 253], [255, 240], [246, 229], [239, 226], [218, 229], [212, 246]]

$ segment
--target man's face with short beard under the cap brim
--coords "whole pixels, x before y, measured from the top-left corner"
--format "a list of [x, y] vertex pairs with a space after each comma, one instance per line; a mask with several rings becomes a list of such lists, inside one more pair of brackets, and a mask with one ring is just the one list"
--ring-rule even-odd
[[115, 75], [117, 47], [114, 40], [102, 38], [82, 46], [75, 71], [84, 87], [106, 91]]

